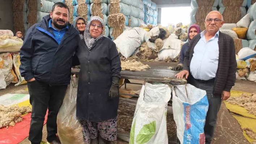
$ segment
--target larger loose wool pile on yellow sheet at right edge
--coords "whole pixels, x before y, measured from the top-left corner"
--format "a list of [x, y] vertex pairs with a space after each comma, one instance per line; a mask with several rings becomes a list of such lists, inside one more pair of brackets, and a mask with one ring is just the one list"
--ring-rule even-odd
[[242, 106], [248, 110], [248, 113], [256, 116], [256, 92], [251, 95], [243, 93], [240, 97], [230, 97], [227, 102], [232, 105]]

